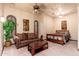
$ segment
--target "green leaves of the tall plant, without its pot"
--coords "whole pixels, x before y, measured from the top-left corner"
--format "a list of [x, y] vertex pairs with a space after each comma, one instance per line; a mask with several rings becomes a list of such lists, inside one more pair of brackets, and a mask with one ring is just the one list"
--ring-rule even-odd
[[16, 25], [15, 22], [12, 20], [7, 20], [3, 24], [3, 29], [5, 31], [4, 36], [6, 41], [10, 41], [10, 39], [12, 38], [12, 32], [15, 28], [15, 25]]

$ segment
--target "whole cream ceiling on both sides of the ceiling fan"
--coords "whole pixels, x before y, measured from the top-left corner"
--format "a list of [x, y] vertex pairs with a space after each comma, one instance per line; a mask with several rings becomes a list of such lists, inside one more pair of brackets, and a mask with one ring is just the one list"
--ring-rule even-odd
[[[15, 7], [24, 11], [33, 12], [33, 6], [35, 3], [6, 3], [6, 6]], [[66, 15], [72, 12], [76, 12], [77, 4], [73, 3], [39, 3], [40, 11], [47, 13], [51, 16]]]

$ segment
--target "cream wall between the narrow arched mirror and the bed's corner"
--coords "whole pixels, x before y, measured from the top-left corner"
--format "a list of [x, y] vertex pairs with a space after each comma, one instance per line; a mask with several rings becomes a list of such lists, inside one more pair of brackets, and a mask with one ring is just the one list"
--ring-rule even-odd
[[46, 34], [54, 33], [54, 19], [51, 16], [42, 14], [39, 17], [39, 36], [43, 35], [46, 39]]

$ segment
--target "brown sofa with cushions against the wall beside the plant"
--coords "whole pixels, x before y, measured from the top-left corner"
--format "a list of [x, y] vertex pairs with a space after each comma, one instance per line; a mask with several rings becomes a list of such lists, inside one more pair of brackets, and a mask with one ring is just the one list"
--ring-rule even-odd
[[22, 33], [17, 34], [14, 38], [16, 48], [24, 47], [31, 42], [39, 40], [34, 33]]

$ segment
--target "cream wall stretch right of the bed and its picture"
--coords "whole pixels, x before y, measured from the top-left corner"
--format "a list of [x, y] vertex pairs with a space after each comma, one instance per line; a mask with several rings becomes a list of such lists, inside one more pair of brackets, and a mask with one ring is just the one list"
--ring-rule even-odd
[[71, 14], [68, 16], [67, 23], [68, 29], [71, 34], [72, 40], [78, 40], [77, 33], [78, 33], [78, 20], [77, 20], [77, 13]]

